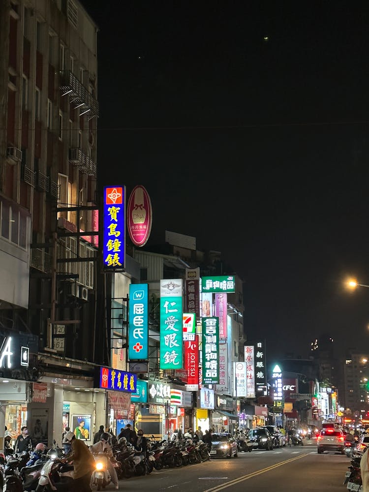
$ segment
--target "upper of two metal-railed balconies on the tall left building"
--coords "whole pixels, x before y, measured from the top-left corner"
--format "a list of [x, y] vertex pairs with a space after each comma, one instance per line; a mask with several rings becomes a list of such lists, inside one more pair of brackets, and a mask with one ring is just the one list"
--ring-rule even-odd
[[87, 114], [87, 119], [99, 117], [99, 104], [88, 89], [77, 79], [73, 72], [60, 72], [60, 89], [62, 96], [69, 94], [70, 102], [75, 108], [80, 108], [79, 116]]

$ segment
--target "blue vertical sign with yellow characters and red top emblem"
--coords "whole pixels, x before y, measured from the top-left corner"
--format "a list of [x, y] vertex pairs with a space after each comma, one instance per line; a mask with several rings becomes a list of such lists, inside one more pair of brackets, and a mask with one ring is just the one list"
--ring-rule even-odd
[[125, 262], [125, 186], [104, 187], [103, 224], [104, 269], [123, 270]]

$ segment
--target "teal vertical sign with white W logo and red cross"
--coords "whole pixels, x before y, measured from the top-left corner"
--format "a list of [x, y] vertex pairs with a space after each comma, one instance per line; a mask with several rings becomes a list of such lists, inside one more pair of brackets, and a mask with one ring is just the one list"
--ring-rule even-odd
[[129, 285], [128, 358], [130, 361], [148, 358], [149, 347], [149, 286]]

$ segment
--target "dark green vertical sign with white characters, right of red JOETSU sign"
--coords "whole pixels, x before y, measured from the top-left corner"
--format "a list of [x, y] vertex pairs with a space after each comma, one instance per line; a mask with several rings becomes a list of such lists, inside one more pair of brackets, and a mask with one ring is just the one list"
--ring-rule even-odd
[[202, 384], [219, 383], [219, 318], [202, 318]]

